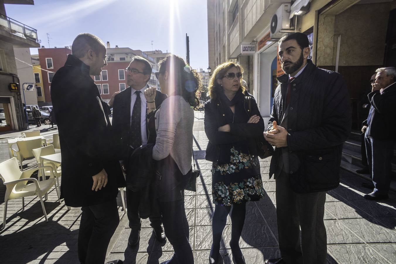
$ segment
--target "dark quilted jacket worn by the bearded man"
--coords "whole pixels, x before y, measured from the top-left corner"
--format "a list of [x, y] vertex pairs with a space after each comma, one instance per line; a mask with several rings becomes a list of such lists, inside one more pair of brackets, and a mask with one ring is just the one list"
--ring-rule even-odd
[[[281, 123], [288, 76], [279, 77], [268, 130]], [[339, 185], [342, 147], [351, 128], [351, 111], [346, 84], [339, 75], [316, 67], [311, 60], [291, 82], [288, 105], [288, 136], [291, 188], [297, 193], [327, 191]], [[270, 164], [270, 177], [277, 168], [280, 149]]]

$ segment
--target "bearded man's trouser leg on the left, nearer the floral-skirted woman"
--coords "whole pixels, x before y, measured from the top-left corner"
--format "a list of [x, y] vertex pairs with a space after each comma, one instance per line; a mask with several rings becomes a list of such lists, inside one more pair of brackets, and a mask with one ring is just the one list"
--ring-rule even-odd
[[296, 194], [290, 188], [289, 175], [282, 172], [276, 182], [276, 217], [279, 249], [286, 263], [303, 263]]

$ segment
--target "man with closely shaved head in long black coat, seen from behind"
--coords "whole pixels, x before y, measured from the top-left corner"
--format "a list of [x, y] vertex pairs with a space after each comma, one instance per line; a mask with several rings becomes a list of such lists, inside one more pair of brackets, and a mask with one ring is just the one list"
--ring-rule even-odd
[[[95, 35], [79, 34], [72, 54], [54, 75], [51, 99], [62, 147], [61, 196], [82, 207], [78, 233], [81, 263], [104, 263], [110, 239], [120, 221], [116, 196], [125, 186], [109, 120], [110, 107], [90, 75], [106, 63], [105, 44]], [[122, 263], [116, 260], [108, 263]]]

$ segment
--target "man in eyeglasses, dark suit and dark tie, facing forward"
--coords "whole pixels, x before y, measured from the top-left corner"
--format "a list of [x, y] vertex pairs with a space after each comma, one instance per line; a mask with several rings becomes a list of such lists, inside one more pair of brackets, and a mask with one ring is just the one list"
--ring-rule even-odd
[[[121, 164], [124, 170], [128, 168], [128, 158], [133, 149], [147, 144], [147, 103], [150, 103], [150, 107], [152, 107], [152, 103], [155, 102], [155, 106], [158, 107], [167, 98], [165, 94], [156, 91], [154, 102], [146, 100], [143, 92], [149, 87], [147, 82], [150, 80], [152, 72], [152, 67], [147, 59], [139, 56], [133, 57], [125, 71], [129, 87], [115, 96], [112, 121], [116, 137], [122, 140], [124, 160], [121, 161]], [[131, 228], [128, 244], [135, 246], [139, 243], [141, 229], [139, 216], [140, 191], [132, 191], [127, 188], [126, 197], [129, 227]], [[161, 227], [160, 218], [150, 217], [150, 226], [153, 228], [154, 235], [158, 241], [164, 242], [166, 237]]]

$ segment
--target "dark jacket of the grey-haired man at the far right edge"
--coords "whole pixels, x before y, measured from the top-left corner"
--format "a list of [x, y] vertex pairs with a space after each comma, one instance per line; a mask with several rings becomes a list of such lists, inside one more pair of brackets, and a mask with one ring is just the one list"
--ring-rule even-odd
[[[396, 83], [385, 89], [383, 94], [374, 91], [367, 95], [374, 107], [367, 136], [381, 140], [396, 139]], [[367, 124], [367, 120], [363, 122]]]

